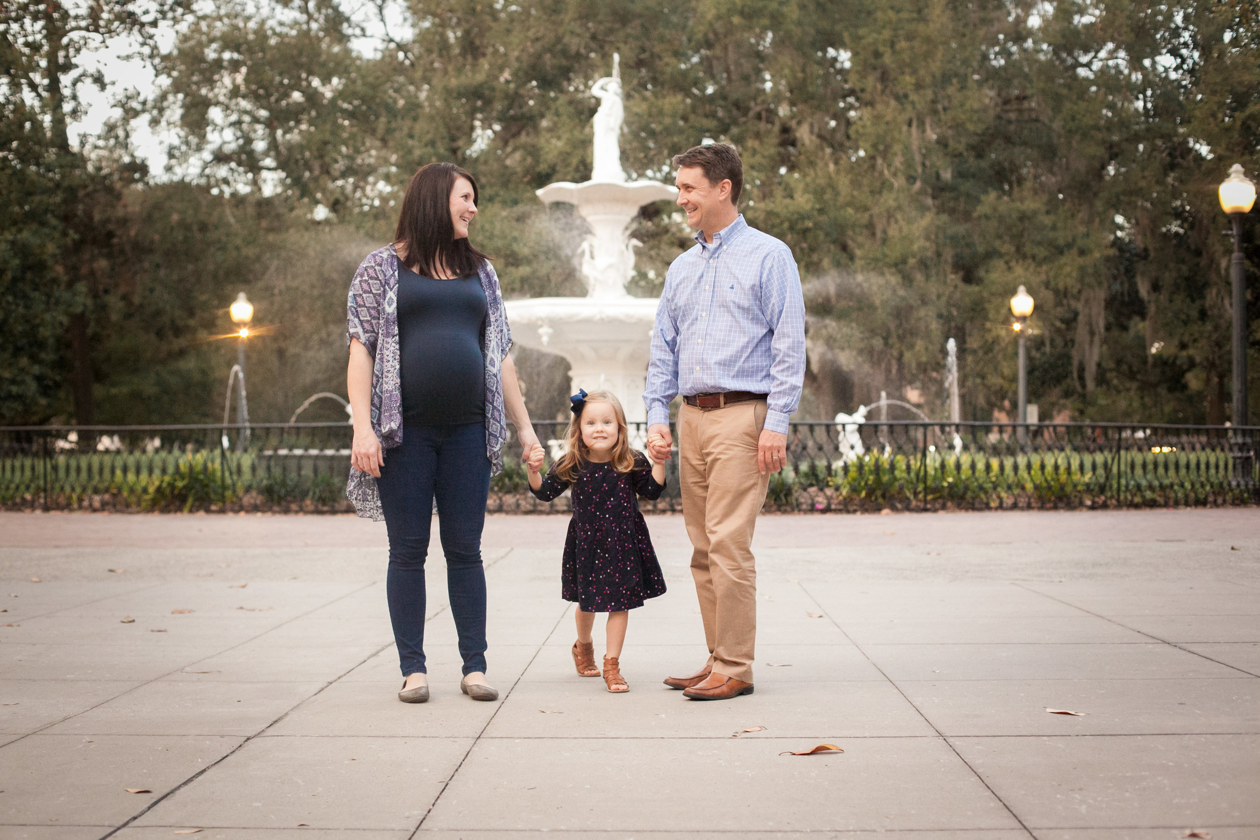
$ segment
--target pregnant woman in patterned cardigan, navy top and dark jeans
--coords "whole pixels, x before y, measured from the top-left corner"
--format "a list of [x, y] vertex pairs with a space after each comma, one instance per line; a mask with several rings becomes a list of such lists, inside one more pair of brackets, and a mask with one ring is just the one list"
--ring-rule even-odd
[[435, 497], [464, 657], [460, 690], [498, 699], [485, 679], [481, 529], [490, 476], [503, 470], [504, 416], [524, 452], [538, 442], [508, 355], [499, 278], [469, 243], [476, 200], [476, 181], [455, 164], [422, 166], [394, 242], [368, 254], [350, 282], [354, 468], [345, 495], [360, 516], [386, 520], [386, 593], [404, 703], [428, 699], [425, 557]]

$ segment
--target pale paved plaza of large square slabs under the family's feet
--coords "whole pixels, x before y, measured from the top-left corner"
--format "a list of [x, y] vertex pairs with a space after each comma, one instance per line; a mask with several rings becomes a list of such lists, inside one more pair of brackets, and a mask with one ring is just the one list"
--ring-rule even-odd
[[382, 525], [0, 514], [0, 837], [1260, 837], [1260, 511], [762, 518], [726, 703], [660, 685], [703, 647], [649, 524], [629, 695], [573, 674], [567, 519], [503, 516], [503, 699], [459, 694], [438, 553], [404, 705]]

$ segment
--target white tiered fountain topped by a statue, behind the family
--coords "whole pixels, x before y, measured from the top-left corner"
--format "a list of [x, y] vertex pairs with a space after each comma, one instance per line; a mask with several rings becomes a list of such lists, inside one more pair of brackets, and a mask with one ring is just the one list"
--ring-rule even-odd
[[626, 419], [648, 417], [643, 392], [648, 349], [656, 319], [655, 297], [631, 297], [626, 283], [634, 273], [630, 222], [639, 208], [673, 199], [678, 190], [660, 181], [626, 181], [621, 169], [620, 59], [612, 57], [612, 76], [591, 88], [598, 97], [595, 113], [595, 171], [582, 184], [558, 181], [538, 190], [547, 204], [577, 205], [591, 227], [578, 251], [586, 297], [532, 297], [508, 301], [513, 338], [527, 348], [557, 353], [570, 363], [573, 393], [611, 390], [621, 400]]

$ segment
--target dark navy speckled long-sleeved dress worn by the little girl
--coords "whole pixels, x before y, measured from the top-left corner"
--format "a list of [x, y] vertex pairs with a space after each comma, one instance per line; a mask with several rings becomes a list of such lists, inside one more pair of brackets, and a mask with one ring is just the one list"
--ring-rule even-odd
[[[570, 486], [554, 466], [533, 494], [543, 501]], [[665, 592], [665, 578], [651, 548], [638, 496], [659, 499], [665, 485], [651, 477], [651, 463], [634, 453], [634, 468], [617, 472], [611, 463], [587, 463], [573, 481], [573, 518], [564, 539], [561, 597], [582, 612], [621, 612], [641, 607]]]

